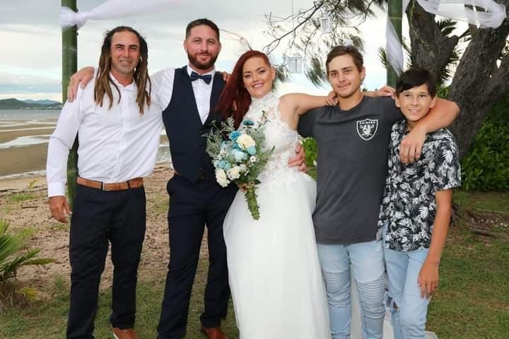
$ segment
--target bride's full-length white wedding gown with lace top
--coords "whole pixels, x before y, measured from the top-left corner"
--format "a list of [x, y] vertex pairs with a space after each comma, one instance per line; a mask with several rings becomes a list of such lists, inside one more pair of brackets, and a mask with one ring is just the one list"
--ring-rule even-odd
[[224, 221], [230, 289], [240, 339], [331, 338], [312, 212], [316, 183], [288, 167], [298, 133], [281, 121], [274, 94], [252, 100], [247, 118], [267, 114], [274, 155], [259, 176], [260, 218], [238, 191]]

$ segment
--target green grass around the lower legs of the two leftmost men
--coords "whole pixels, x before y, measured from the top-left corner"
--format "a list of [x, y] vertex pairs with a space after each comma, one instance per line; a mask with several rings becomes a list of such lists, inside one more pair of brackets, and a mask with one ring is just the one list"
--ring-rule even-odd
[[[208, 261], [200, 261], [198, 266], [189, 304], [186, 338], [204, 338], [199, 331], [199, 316], [203, 311], [207, 263]], [[136, 331], [141, 338], [156, 338], [163, 300], [164, 279], [163, 272], [156, 280], [146, 281], [143, 280], [143, 277], [139, 279], [136, 290]], [[54, 280], [54, 288], [57, 293], [49, 301], [35, 302], [27, 308], [15, 307], [0, 314], [0, 338], [65, 338], [69, 312], [69, 283], [57, 276]], [[98, 313], [95, 317], [95, 338], [113, 338], [109, 321], [110, 313], [111, 289], [107, 289], [100, 293], [99, 297]], [[228, 338], [238, 338], [231, 302], [228, 316], [223, 322], [223, 331], [228, 335]]]

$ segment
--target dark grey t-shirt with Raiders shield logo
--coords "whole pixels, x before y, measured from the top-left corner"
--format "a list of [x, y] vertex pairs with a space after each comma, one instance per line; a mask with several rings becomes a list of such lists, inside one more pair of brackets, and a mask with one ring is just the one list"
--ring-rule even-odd
[[312, 109], [298, 132], [317, 141], [315, 233], [321, 244], [376, 239], [387, 174], [391, 126], [403, 115], [389, 97], [363, 97], [359, 105]]

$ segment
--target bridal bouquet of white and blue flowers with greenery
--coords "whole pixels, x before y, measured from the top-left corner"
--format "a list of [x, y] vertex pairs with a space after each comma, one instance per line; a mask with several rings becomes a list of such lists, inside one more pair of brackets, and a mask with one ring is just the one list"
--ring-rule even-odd
[[266, 121], [263, 116], [255, 127], [254, 121], [244, 119], [240, 128], [235, 129], [233, 119], [228, 118], [206, 135], [206, 152], [212, 158], [218, 184], [226, 187], [233, 182], [244, 189], [247, 208], [254, 220], [259, 219], [256, 186], [260, 182], [257, 178], [274, 151], [264, 145]]

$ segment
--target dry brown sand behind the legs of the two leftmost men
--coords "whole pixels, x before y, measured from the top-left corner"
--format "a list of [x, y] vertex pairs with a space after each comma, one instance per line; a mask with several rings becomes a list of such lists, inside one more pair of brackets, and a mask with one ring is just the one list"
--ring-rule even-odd
[[[168, 194], [166, 182], [173, 171], [168, 165], [159, 165], [146, 178], [147, 230], [139, 275], [158, 275], [164, 278], [169, 257]], [[54, 295], [54, 281], [69, 281], [69, 224], [62, 224], [51, 217], [47, 207], [45, 177], [23, 177], [0, 180], [0, 219], [11, 222], [9, 232], [28, 232], [26, 248], [39, 248], [40, 257], [54, 258], [55, 263], [44, 268], [26, 267], [18, 272], [23, 285], [36, 287], [42, 299]], [[206, 242], [201, 255], [206, 256]], [[112, 265], [108, 254], [101, 287], [111, 285]]]

